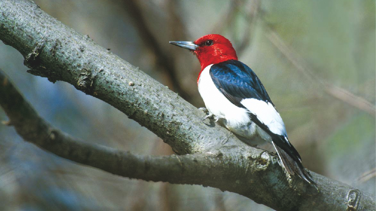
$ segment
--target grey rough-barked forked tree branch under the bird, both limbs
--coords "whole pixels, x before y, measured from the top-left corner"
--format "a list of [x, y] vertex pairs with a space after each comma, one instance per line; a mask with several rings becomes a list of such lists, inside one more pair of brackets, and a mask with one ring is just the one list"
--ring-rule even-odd
[[[57, 148], [67, 147], [69, 151], [56, 154], [111, 173], [209, 185], [242, 194], [276, 210], [374, 209], [374, 197], [370, 194], [324, 176], [312, 173], [319, 192], [298, 179], [287, 180], [273, 154], [245, 145], [224, 128], [203, 124], [200, 120], [203, 113], [176, 93], [98, 46], [88, 36], [45, 14], [32, 2], [3, 0], [0, 12], [0, 39], [20, 51], [30, 73], [53, 82], [66, 81], [147, 127], [177, 154], [195, 155], [178, 159], [136, 156], [77, 142], [51, 129], [21, 95], [15, 97], [17, 94], [3, 78], [0, 80], [2, 106], [16, 129], [24, 125], [17, 131], [25, 140], [54, 153]], [[91, 154], [94, 152], [95, 155]], [[163, 164], [158, 159], [168, 162]], [[146, 160], [149, 161], [145, 163]], [[139, 165], [135, 169], [139, 172], [133, 175], [127, 166], [132, 162]], [[147, 169], [159, 175], [150, 174], [147, 178]], [[165, 171], [180, 177], [169, 178]], [[217, 175], [215, 178], [211, 171]]]

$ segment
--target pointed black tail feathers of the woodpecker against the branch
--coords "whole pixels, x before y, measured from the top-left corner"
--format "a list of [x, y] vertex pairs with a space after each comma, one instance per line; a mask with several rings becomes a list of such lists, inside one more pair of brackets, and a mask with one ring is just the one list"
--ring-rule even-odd
[[291, 176], [298, 176], [308, 183], [312, 185], [316, 185], [316, 183], [313, 181], [311, 174], [303, 167], [302, 161], [300, 161], [297, 157], [291, 157], [287, 152], [285, 152], [282, 148], [277, 146], [275, 143], [273, 143], [274, 148], [277, 150], [277, 154], [282, 161], [282, 164], [284, 165], [285, 169], [287, 170], [287, 173], [289, 173]]

